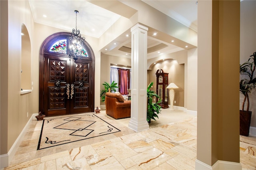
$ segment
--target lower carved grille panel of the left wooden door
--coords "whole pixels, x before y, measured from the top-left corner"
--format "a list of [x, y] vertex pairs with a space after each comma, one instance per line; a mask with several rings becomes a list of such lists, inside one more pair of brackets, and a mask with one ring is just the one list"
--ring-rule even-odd
[[50, 109], [65, 108], [65, 87], [56, 89], [55, 87], [49, 87], [50, 92]]

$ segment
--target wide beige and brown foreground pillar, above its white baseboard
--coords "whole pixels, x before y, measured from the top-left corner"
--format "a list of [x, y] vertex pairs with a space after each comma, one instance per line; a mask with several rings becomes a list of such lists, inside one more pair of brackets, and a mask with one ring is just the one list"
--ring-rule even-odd
[[198, 1], [197, 160], [209, 166], [239, 162], [239, 14], [239, 1]]

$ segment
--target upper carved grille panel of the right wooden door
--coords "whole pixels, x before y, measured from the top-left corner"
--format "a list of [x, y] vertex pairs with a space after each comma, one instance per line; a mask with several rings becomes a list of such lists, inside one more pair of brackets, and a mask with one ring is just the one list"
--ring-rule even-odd
[[88, 83], [88, 63], [76, 63], [75, 81]]

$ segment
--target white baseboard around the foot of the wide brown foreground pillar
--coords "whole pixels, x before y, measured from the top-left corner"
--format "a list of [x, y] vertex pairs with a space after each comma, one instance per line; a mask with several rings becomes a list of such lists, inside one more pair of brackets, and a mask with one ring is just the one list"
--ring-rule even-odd
[[217, 160], [213, 166], [205, 164], [200, 160], [196, 160], [196, 170], [242, 170], [242, 165], [238, 162], [228, 162]]

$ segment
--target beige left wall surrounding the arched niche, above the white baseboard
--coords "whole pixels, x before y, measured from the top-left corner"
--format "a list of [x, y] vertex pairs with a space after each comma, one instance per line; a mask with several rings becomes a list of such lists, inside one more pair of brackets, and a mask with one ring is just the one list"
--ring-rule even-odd
[[6, 120], [8, 121], [8, 138], [6, 140], [9, 151], [32, 115], [31, 109], [28, 108], [31, 104], [31, 94], [20, 95], [22, 42], [20, 33], [24, 23], [30, 35], [33, 35], [34, 20], [28, 1], [8, 1], [8, 10], [9, 53], [8, 67], [6, 67], [8, 68], [8, 120]]

